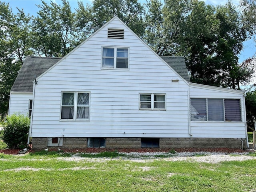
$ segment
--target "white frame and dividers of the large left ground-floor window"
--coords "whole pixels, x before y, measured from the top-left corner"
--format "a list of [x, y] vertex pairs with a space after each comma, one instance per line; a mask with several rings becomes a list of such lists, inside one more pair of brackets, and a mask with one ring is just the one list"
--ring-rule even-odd
[[[64, 93], [74, 93], [74, 104], [73, 105], [62, 105], [63, 102], [63, 94]], [[89, 102], [88, 105], [81, 105], [78, 104], [78, 94], [79, 93], [88, 93], [89, 94]], [[91, 98], [91, 93], [88, 91], [62, 91], [61, 92], [61, 104], [60, 104], [60, 121], [89, 121], [90, 120], [90, 98]], [[74, 107], [73, 110], [73, 118], [62, 118], [62, 107]], [[77, 109], [78, 107], [88, 107], [88, 118], [77, 118]]]

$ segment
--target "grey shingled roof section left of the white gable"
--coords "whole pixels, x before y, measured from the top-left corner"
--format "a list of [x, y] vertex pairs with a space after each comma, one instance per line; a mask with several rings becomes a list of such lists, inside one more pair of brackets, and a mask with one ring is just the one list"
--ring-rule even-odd
[[60, 57], [27, 56], [11, 92], [33, 92], [33, 80], [58, 62]]

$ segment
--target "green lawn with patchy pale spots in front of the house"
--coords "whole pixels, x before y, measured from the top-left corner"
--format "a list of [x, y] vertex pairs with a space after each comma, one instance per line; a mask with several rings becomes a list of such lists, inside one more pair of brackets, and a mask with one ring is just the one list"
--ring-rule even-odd
[[253, 192], [256, 160], [218, 164], [124, 160], [94, 156], [65, 160], [71, 154], [0, 154], [0, 192]]

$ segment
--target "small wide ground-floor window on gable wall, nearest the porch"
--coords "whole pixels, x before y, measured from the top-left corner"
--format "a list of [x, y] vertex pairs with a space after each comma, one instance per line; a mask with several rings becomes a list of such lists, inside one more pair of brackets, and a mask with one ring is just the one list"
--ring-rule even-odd
[[140, 94], [141, 110], [166, 110], [165, 94]]

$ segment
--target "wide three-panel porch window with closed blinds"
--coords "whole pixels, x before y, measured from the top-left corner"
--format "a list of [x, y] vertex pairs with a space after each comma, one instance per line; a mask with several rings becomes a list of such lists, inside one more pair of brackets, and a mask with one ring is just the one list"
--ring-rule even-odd
[[239, 99], [191, 98], [191, 121], [242, 121]]

